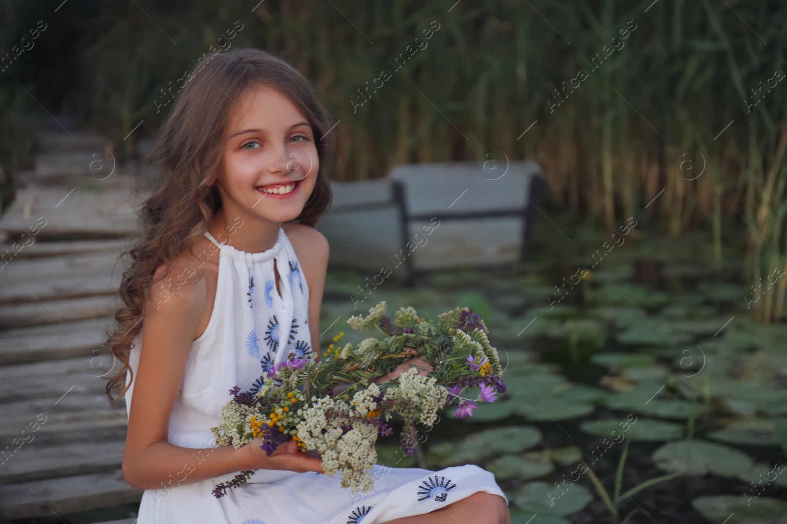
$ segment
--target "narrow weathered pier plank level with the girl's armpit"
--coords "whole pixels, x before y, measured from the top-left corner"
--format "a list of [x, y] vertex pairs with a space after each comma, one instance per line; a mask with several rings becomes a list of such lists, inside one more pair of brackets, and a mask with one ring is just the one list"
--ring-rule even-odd
[[[108, 317], [120, 307], [120, 299], [112, 296], [30, 302], [0, 306], [0, 329], [24, 328], [39, 324], [78, 321], [86, 318]], [[61, 324], [62, 325], [62, 324]], [[64, 327], [65, 335], [72, 336]]]

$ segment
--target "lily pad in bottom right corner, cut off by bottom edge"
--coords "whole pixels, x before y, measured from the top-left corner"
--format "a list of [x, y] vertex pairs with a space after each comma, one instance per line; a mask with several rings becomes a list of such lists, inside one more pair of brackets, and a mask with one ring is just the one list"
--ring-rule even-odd
[[692, 506], [715, 524], [777, 524], [787, 522], [787, 500], [741, 495], [714, 495], [692, 500]]

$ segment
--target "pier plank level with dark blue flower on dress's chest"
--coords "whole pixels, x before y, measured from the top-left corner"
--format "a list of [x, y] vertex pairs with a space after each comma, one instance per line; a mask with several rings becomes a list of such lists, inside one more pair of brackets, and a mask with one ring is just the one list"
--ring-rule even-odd
[[108, 355], [104, 342], [115, 324], [103, 317], [0, 331], [0, 365]]

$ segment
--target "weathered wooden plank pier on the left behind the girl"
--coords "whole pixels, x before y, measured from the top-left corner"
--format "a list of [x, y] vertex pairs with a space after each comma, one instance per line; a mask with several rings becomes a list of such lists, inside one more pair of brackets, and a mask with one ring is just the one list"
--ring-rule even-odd
[[145, 195], [100, 136], [42, 131], [37, 150], [0, 217], [0, 522], [142, 497], [120, 471], [124, 401], [101, 377]]

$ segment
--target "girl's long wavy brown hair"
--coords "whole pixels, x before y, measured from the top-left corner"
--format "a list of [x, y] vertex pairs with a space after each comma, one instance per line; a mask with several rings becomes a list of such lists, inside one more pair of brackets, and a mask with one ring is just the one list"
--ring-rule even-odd
[[[296, 218], [314, 226], [327, 211], [331, 186], [327, 155], [332, 152], [330, 138], [333, 120], [323, 108], [304, 75], [286, 61], [260, 49], [234, 49], [203, 57], [194, 68], [153, 141], [145, 162], [156, 173], [157, 189], [142, 203], [139, 211], [139, 243], [120, 258], [131, 256], [131, 267], [123, 273], [120, 299], [125, 304], [115, 313], [117, 326], [104, 343], [116, 363], [122, 364], [107, 380], [106, 395], [115, 405], [123, 396], [132, 341], [142, 330], [144, 305], [149, 290], [157, 281], [156, 270], [168, 266], [184, 251], [203, 238], [212, 225], [221, 197], [213, 175], [220, 169], [224, 134], [235, 102], [257, 86], [278, 90], [300, 110], [312, 126], [320, 160], [315, 188], [303, 211]], [[198, 272], [201, 275], [201, 272]], [[129, 382], [130, 384], [131, 382]]]

